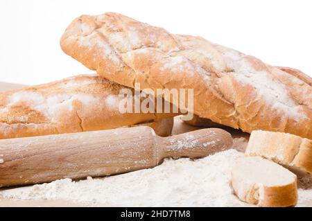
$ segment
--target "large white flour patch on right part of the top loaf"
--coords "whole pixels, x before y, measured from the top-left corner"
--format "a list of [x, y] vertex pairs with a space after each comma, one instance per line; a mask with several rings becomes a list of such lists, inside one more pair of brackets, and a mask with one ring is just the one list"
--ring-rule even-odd
[[[264, 102], [270, 105], [271, 109], [285, 112], [295, 121], [300, 118], [307, 118], [302, 107], [297, 105], [290, 96], [286, 83], [285, 85], [281, 84], [275, 76], [277, 73], [274, 72], [273, 74], [268, 66], [256, 58], [250, 58], [232, 48], [220, 45], [216, 45], [216, 48], [223, 54], [227, 66], [235, 71], [234, 78], [243, 84], [252, 85], [257, 94], [262, 96]], [[254, 67], [253, 62], [259, 62], [257, 68]], [[260, 67], [261, 65], [262, 67]], [[288, 78], [295, 79], [296, 83], [300, 84], [300, 80], [287, 73], [281, 71], [279, 74], [287, 75]]]

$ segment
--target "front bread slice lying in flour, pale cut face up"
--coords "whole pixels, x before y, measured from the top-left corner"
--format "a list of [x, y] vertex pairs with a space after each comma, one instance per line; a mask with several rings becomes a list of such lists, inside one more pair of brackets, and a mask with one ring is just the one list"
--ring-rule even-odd
[[261, 157], [242, 157], [232, 170], [232, 188], [240, 200], [265, 207], [295, 206], [297, 177]]

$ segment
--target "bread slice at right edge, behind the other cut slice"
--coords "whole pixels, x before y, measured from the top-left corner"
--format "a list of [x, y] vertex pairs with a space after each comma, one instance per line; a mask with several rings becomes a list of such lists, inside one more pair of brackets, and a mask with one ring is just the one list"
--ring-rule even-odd
[[245, 155], [270, 159], [300, 177], [312, 174], [312, 141], [293, 134], [254, 130]]

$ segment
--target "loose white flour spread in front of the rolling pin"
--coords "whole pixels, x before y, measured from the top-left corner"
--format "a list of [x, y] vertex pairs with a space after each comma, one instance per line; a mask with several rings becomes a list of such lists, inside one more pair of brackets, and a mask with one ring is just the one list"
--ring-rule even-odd
[[[151, 169], [80, 182], [62, 179], [1, 191], [0, 196], [71, 200], [89, 206], [249, 206], [230, 187], [231, 169], [239, 157], [243, 153], [232, 149], [203, 159], [166, 159]], [[298, 206], [311, 205], [312, 190], [300, 189]]]

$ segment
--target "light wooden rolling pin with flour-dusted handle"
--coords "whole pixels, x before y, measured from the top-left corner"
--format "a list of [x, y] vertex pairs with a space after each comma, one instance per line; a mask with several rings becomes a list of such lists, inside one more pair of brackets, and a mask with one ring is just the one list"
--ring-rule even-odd
[[0, 140], [0, 185], [127, 173], [166, 157], [205, 157], [231, 146], [232, 136], [221, 129], [163, 138], [145, 126]]

